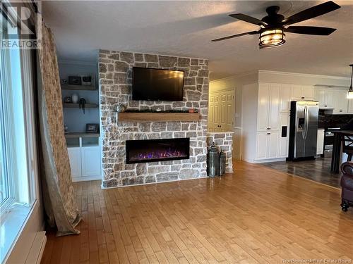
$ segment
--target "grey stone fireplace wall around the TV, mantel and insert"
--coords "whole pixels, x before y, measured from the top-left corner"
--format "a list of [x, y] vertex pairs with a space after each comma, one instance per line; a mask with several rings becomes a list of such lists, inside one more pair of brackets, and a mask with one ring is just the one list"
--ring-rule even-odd
[[[184, 70], [184, 101], [132, 101], [132, 67]], [[208, 61], [101, 50], [99, 54], [103, 187], [206, 177]], [[117, 122], [116, 103], [128, 109], [162, 111], [198, 108], [197, 122]], [[128, 139], [190, 137], [190, 158], [179, 161], [125, 164]]]

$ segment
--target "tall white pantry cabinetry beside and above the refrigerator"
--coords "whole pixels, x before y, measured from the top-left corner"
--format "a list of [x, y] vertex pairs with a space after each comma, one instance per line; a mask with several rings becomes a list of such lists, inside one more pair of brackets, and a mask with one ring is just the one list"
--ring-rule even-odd
[[288, 156], [290, 101], [313, 100], [314, 96], [314, 87], [308, 85], [265, 82], [244, 85], [244, 161], [284, 161]]

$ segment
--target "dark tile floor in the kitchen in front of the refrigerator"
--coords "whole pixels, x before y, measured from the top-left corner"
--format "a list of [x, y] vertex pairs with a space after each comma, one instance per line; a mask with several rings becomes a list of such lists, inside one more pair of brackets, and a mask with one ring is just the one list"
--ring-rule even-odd
[[340, 174], [330, 172], [331, 158], [316, 158], [312, 161], [280, 161], [263, 165], [309, 180], [340, 187]]

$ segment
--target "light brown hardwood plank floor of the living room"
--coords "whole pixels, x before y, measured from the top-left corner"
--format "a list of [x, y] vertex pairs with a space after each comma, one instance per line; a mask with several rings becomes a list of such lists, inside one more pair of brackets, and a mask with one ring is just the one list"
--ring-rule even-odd
[[42, 263], [352, 261], [353, 208], [340, 210], [339, 189], [263, 165], [234, 168], [214, 180], [76, 183], [81, 234], [49, 234]]

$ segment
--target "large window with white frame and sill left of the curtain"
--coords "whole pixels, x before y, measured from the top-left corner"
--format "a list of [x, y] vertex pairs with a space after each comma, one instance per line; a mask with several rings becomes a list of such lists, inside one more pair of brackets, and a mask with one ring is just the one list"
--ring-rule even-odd
[[[0, 41], [7, 37], [6, 27], [1, 26], [4, 21], [1, 17]], [[0, 49], [0, 263], [37, 196], [33, 59], [30, 50]]]

